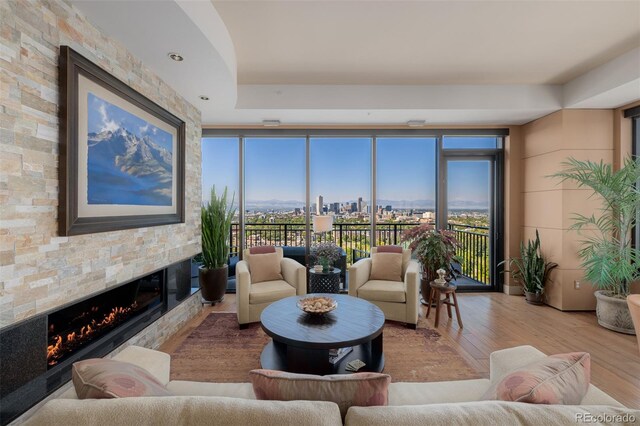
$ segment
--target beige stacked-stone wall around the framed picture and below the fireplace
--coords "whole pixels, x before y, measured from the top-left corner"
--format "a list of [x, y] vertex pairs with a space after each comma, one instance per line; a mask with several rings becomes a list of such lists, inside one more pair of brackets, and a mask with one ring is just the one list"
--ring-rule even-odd
[[[0, 327], [200, 251], [200, 112], [70, 3], [0, 1]], [[58, 54], [69, 45], [186, 122], [184, 224], [60, 237]], [[196, 296], [197, 297], [197, 296]], [[195, 298], [194, 298], [195, 300]], [[177, 329], [184, 302], [139, 338]], [[170, 328], [166, 326], [171, 325]]]

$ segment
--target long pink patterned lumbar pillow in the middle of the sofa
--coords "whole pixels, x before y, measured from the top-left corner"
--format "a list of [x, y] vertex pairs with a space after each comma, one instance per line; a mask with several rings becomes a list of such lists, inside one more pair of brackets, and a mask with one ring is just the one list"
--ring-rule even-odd
[[252, 370], [253, 392], [257, 399], [276, 401], [331, 401], [342, 417], [351, 406], [387, 405], [391, 376], [380, 373], [315, 376], [275, 370]]

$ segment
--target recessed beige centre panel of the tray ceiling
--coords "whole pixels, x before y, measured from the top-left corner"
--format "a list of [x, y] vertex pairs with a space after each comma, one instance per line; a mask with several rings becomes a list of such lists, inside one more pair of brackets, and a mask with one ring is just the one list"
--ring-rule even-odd
[[240, 84], [563, 84], [640, 44], [638, 1], [213, 4]]

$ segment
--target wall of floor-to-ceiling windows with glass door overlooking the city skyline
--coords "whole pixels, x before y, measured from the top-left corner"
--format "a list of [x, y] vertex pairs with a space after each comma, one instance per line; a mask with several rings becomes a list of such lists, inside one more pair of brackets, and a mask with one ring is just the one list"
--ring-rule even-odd
[[[504, 131], [205, 130], [236, 148], [242, 244], [309, 248], [332, 240], [348, 264], [371, 246], [401, 244], [408, 227], [430, 223], [462, 243], [458, 284], [499, 289]], [[229, 160], [233, 162], [233, 160]], [[203, 169], [209, 167], [204, 155]], [[242, 172], [240, 172], [242, 171]], [[203, 170], [203, 176], [205, 171]], [[216, 182], [216, 185], [217, 182]], [[331, 216], [313, 232], [314, 216]]]

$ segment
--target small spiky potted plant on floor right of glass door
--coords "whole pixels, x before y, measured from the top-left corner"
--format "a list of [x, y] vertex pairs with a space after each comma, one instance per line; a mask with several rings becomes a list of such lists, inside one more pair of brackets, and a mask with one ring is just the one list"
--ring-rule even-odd
[[544, 287], [549, 280], [549, 275], [557, 263], [547, 262], [540, 249], [540, 235], [536, 229], [535, 241], [520, 242], [520, 257], [513, 257], [508, 261], [502, 261], [498, 266], [509, 263], [511, 276], [522, 283], [524, 296], [527, 302], [533, 305], [542, 305], [544, 301]]

